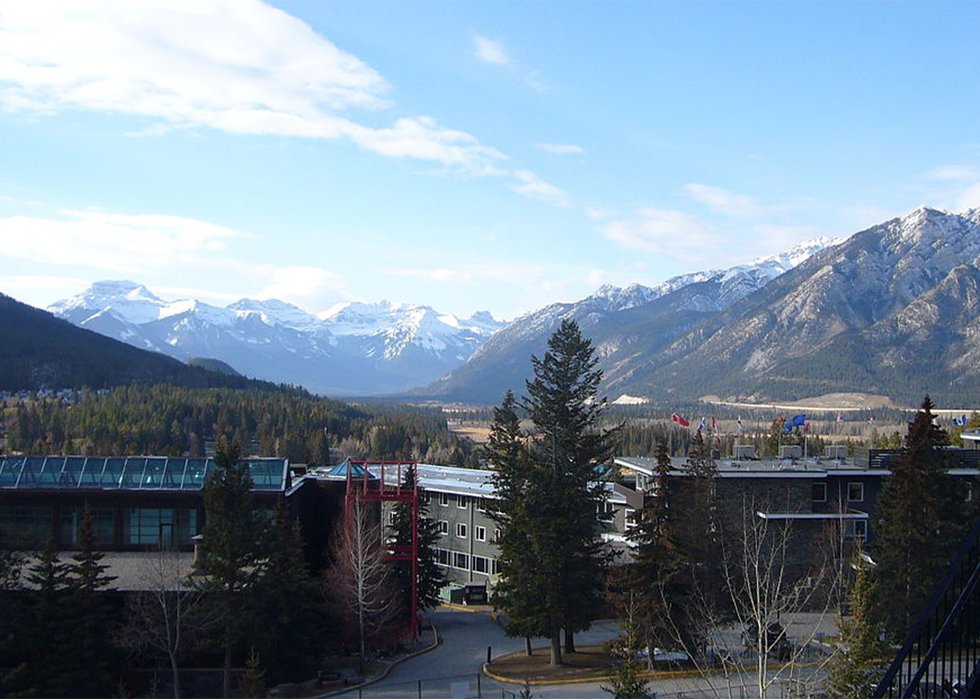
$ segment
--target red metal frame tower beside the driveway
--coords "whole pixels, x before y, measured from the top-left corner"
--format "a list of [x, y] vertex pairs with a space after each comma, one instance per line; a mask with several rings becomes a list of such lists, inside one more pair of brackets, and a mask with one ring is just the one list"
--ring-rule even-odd
[[[409, 545], [395, 546], [385, 544], [387, 559], [390, 561], [411, 561], [412, 563], [412, 609], [409, 631], [412, 639], [419, 636], [419, 492], [418, 470], [412, 487], [405, 484], [409, 468], [414, 461], [355, 461], [348, 460], [347, 491], [345, 494], [344, 516], [354, 511], [355, 500], [362, 502], [408, 502], [412, 505], [412, 541]], [[356, 473], [355, 473], [356, 472]], [[384, 526], [384, 520], [379, 522]], [[384, 537], [382, 537], [384, 541]]]

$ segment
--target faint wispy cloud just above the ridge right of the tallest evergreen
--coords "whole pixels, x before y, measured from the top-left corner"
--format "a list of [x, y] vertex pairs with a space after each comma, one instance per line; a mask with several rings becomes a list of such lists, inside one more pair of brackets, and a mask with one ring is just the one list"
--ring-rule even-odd
[[601, 229], [623, 247], [660, 253], [686, 262], [716, 260], [721, 234], [682, 211], [642, 208], [629, 220], [610, 221]]

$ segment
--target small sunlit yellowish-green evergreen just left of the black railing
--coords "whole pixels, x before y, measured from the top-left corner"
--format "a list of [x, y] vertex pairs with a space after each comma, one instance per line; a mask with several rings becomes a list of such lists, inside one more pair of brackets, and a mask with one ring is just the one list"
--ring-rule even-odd
[[834, 699], [867, 696], [884, 674], [888, 647], [881, 639], [883, 625], [875, 612], [875, 579], [865, 554], [855, 550], [855, 570], [847, 602], [849, 616], [840, 619], [840, 644], [830, 659], [827, 689]]

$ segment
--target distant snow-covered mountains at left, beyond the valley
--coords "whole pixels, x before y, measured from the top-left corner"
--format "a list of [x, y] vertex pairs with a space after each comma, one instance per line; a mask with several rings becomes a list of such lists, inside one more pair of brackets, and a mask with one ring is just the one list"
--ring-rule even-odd
[[102, 281], [49, 310], [80, 327], [187, 361], [220, 359], [256, 378], [323, 393], [380, 394], [426, 383], [466, 361], [503, 324], [425, 306], [346, 304], [318, 318], [275, 299], [220, 307], [164, 301]]

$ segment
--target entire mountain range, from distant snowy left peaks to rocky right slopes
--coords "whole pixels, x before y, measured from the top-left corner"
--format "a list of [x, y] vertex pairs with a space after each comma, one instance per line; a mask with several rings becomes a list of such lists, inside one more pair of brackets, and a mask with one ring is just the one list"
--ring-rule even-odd
[[98, 282], [51, 310], [183, 361], [338, 395], [496, 404], [523, 391], [531, 355], [571, 318], [613, 401], [866, 393], [915, 405], [928, 392], [963, 405], [980, 401], [980, 210], [920, 208], [750, 265], [602, 287], [506, 325], [386, 302], [322, 317], [275, 300], [220, 308], [132, 282]]

